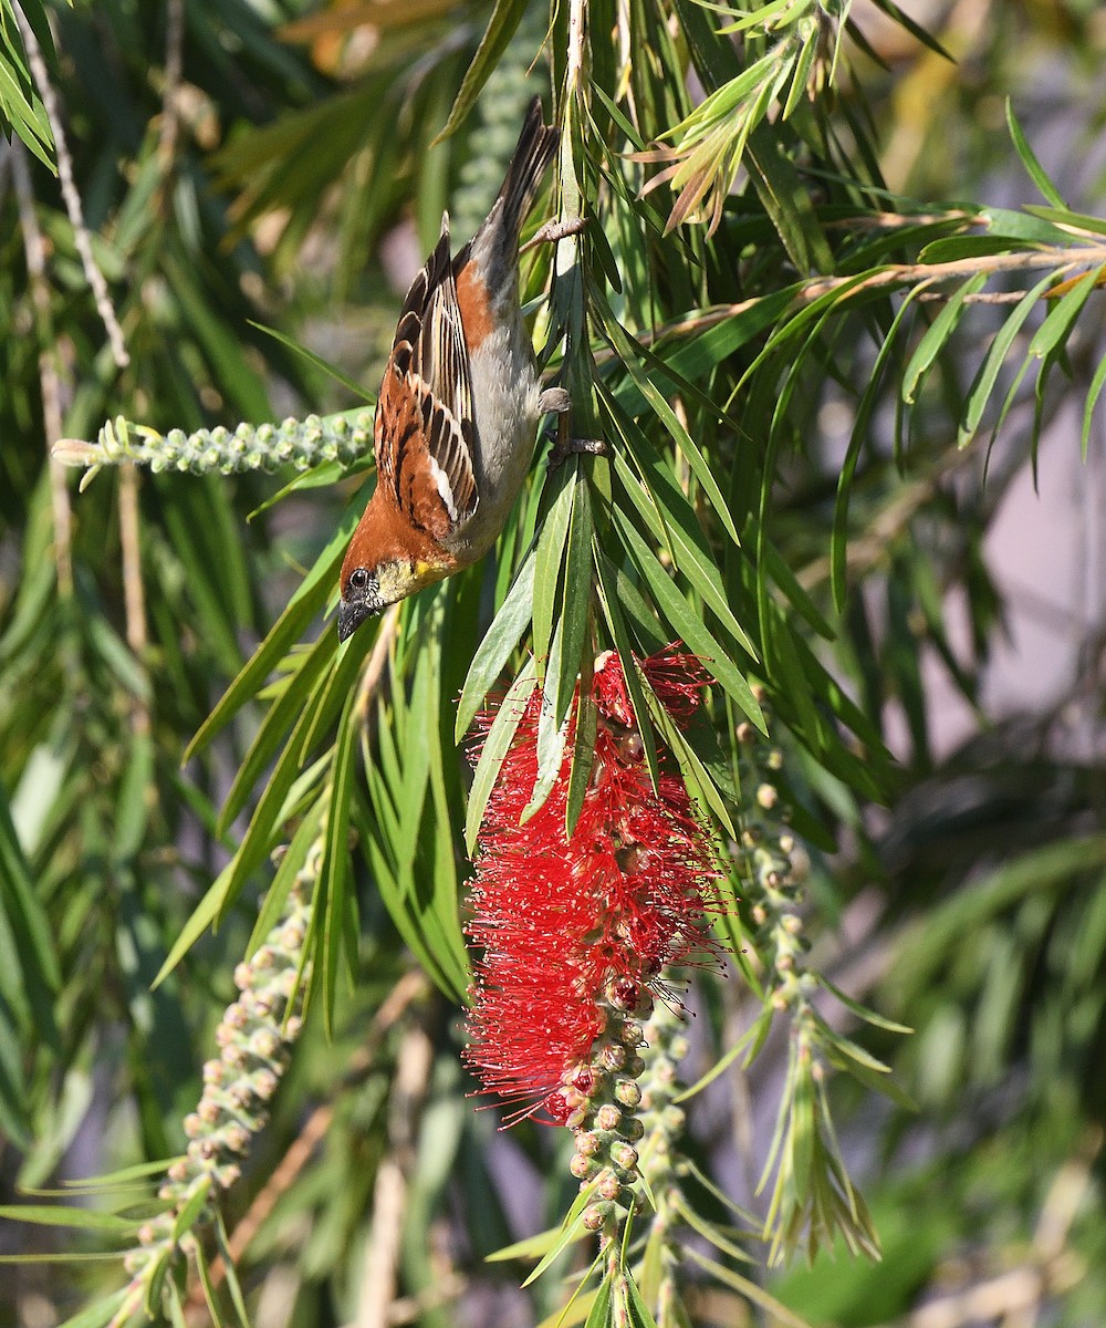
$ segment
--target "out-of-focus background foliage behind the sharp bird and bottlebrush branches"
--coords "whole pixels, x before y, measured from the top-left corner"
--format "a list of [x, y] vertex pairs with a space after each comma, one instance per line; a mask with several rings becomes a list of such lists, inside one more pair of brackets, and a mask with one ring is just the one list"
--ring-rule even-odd
[[[1032, 201], [1010, 147], [1009, 97], [1066, 202], [1102, 216], [1101, 5], [904, 8], [955, 62], [856, 0], [852, 16], [883, 65], [855, 53], [855, 77], [892, 194], [1008, 208]], [[17, 1185], [179, 1149], [252, 916], [206, 936], [154, 992], [150, 980], [227, 861], [234, 830], [216, 831], [215, 810], [251, 721], [183, 773], [181, 756], [355, 491], [351, 482], [308, 490], [250, 522], [276, 487], [260, 475], [125, 473], [77, 497], [46, 465], [46, 441], [94, 437], [119, 412], [167, 430], [355, 402], [258, 324], [374, 385], [442, 207], [455, 234], [475, 227], [522, 108], [548, 88], [544, 61], [530, 68], [547, 23], [536, 5], [461, 133], [429, 147], [489, 12], [453, 0], [50, 9], [52, 80], [93, 236], [110, 220], [112, 242], [97, 242], [96, 256], [123, 292], [130, 368], [119, 378], [105, 347], [54, 179], [0, 142], [0, 793], [11, 817], [0, 871], [33, 875], [62, 960], [60, 973], [40, 975], [40, 989], [57, 997], [49, 1008], [33, 997], [20, 936], [0, 934], [8, 1199]], [[846, 88], [842, 102], [852, 96]], [[1103, 352], [1099, 308], [1089, 305], [1065, 373], [1042, 398], [1025, 389], [989, 448], [977, 440], [940, 473], [872, 465], [870, 486], [863, 475], [858, 486], [868, 527], [850, 547], [854, 594], [826, 659], [879, 717], [899, 773], [890, 805], [871, 807], [802, 766], [798, 782], [838, 843], [810, 850], [809, 931], [839, 987], [915, 1029], [867, 1045], [917, 1110], [839, 1085], [842, 1145], [884, 1258], [839, 1252], [773, 1270], [771, 1292], [811, 1324], [1106, 1323], [1102, 412], [1081, 458]], [[988, 317], [981, 308], [961, 333], [963, 381], [948, 371], [944, 396], [971, 381], [998, 325]], [[858, 349], [855, 381], [870, 368]], [[892, 396], [872, 426], [886, 457]], [[819, 604], [851, 401], [847, 385], [823, 385], [818, 438], [797, 458], [774, 518], [778, 547]], [[939, 394], [913, 425], [937, 450], [943, 430], [955, 432], [943, 405]], [[256, 1218], [247, 1266], [262, 1288], [259, 1328], [355, 1316], [377, 1126], [402, 1050], [384, 1025], [392, 1061], [357, 1069], [365, 1012], [398, 961], [381, 946], [364, 968], [335, 1042], [297, 1053], [239, 1197]], [[750, 1017], [737, 993], [701, 1013], [734, 1029]], [[706, 1064], [697, 1066], [697, 1045], [689, 1080]], [[459, 1116], [449, 1105], [463, 1106], [455, 1050], [447, 1033], [425, 1146], [428, 1157], [439, 1145], [459, 1159], [453, 1183], [485, 1206], [487, 1231], [470, 1232], [458, 1255], [458, 1204], [424, 1212], [429, 1254], [412, 1280], [443, 1295], [461, 1287], [463, 1320], [433, 1296], [410, 1301], [408, 1320], [528, 1324], [518, 1266], [489, 1271], [474, 1250], [563, 1210], [564, 1186], [543, 1189], [540, 1177], [567, 1179], [564, 1158], [552, 1131], [526, 1126], [493, 1139], [489, 1114]], [[770, 1042], [748, 1074], [712, 1089], [696, 1120], [700, 1146], [753, 1211], [785, 1056], [782, 1040]], [[321, 1146], [271, 1208], [251, 1207], [304, 1131]], [[479, 1166], [465, 1161], [466, 1138], [479, 1145]], [[441, 1194], [439, 1177], [426, 1185]], [[0, 1220], [0, 1250], [36, 1242], [48, 1248], [49, 1232], [28, 1236]], [[0, 1324], [50, 1328], [96, 1279], [94, 1270], [5, 1268]], [[714, 1295], [702, 1292], [702, 1323], [774, 1321]]]

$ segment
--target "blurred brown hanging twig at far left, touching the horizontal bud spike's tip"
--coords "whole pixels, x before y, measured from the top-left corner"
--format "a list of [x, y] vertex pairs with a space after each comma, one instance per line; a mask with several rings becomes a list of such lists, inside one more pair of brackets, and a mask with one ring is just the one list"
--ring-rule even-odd
[[46, 278], [46, 247], [35, 214], [35, 193], [27, 167], [27, 150], [19, 139], [11, 146], [0, 146], [0, 162], [11, 163], [12, 182], [27, 254], [27, 274], [31, 299], [35, 303], [35, 321], [39, 337], [39, 384], [42, 393], [42, 425], [45, 429], [46, 466], [50, 482], [50, 511], [53, 514], [53, 550], [57, 564], [57, 588], [62, 599], [73, 596], [73, 513], [65, 483], [65, 466], [56, 461], [49, 445], [62, 434], [61, 376], [57, 369], [57, 345], [50, 319], [50, 288]]

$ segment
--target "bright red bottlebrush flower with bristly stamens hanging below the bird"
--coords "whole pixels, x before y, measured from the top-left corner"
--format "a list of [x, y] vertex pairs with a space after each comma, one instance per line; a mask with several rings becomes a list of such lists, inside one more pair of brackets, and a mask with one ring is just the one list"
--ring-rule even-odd
[[[706, 681], [672, 648], [643, 671], [678, 722]], [[605, 1004], [632, 1008], [661, 969], [710, 950], [702, 931], [714, 855], [681, 780], [653, 790], [617, 656], [596, 661], [595, 768], [566, 841], [568, 761], [519, 825], [538, 774], [534, 696], [489, 799], [473, 882], [475, 965], [467, 1060], [520, 1116], [568, 1114], [559, 1089], [588, 1061]], [[633, 738], [637, 738], [635, 742]], [[571, 749], [571, 741], [568, 744]], [[628, 1004], [627, 1004], [628, 1003]]]

